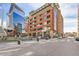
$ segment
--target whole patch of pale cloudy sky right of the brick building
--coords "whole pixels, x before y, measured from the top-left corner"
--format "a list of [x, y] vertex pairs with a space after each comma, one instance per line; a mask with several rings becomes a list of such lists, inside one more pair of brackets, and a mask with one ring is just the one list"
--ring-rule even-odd
[[64, 32], [77, 31], [77, 4], [61, 3], [60, 9], [64, 18]]

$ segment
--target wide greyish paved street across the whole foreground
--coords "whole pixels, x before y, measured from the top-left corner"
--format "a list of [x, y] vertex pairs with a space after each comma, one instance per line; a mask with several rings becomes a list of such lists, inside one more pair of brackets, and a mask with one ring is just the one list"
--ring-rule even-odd
[[79, 56], [79, 42], [64, 38], [0, 43], [0, 56]]

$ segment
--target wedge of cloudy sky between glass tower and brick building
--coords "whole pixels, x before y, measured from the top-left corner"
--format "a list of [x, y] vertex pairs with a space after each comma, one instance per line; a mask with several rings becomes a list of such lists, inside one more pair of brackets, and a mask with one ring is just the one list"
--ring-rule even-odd
[[41, 7], [44, 3], [17, 3], [17, 5], [25, 12], [25, 16], [29, 15], [29, 12]]

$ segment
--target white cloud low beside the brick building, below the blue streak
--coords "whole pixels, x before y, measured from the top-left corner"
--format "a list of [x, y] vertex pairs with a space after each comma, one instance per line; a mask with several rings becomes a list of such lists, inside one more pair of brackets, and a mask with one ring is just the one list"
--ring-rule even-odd
[[77, 32], [77, 19], [65, 18], [64, 19], [64, 32]]

